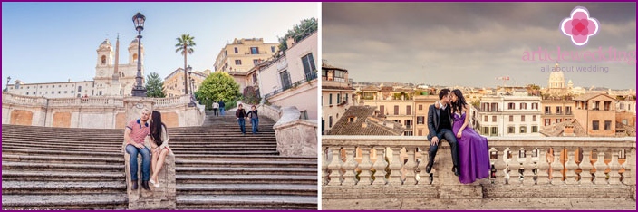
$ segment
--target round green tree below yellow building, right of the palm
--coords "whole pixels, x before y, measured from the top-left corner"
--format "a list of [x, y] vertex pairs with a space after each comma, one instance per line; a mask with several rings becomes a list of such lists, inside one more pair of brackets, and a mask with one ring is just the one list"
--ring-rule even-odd
[[227, 72], [213, 72], [201, 83], [195, 96], [198, 101], [224, 101], [226, 108], [231, 109], [236, 101], [241, 100], [239, 84]]

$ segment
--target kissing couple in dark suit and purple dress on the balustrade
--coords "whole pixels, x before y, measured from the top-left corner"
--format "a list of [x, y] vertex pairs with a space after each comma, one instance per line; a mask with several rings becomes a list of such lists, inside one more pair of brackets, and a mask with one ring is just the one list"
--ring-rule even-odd
[[478, 178], [488, 178], [490, 163], [488, 139], [469, 126], [469, 106], [459, 89], [442, 89], [439, 100], [428, 110], [428, 140], [430, 161], [425, 168], [430, 173], [439, 141], [445, 139], [452, 153], [452, 171], [463, 184]]

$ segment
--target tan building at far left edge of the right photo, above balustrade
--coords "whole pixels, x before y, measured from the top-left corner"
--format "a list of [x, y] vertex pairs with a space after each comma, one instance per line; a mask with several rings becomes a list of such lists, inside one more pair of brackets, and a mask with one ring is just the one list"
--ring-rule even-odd
[[321, 129], [322, 135], [327, 135], [345, 111], [354, 105], [354, 89], [348, 79], [348, 70], [326, 63], [322, 63], [321, 70]]

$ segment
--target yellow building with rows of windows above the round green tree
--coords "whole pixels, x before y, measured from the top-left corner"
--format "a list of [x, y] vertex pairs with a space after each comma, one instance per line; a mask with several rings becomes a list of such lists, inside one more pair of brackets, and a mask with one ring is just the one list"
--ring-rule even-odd
[[219, 51], [215, 72], [247, 72], [260, 60], [273, 57], [278, 46], [279, 43], [264, 43], [263, 38], [236, 38]]

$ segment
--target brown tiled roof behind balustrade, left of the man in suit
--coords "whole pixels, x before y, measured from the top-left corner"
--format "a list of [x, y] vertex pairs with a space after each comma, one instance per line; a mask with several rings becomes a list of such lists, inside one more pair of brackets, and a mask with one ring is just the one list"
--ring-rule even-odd
[[[403, 133], [405, 129], [399, 123], [392, 121], [377, 122], [372, 117], [375, 110], [376, 108], [372, 106], [351, 106], [334, 124], [333, 129], [330, 130], [330, 135], [397, 136]], [[354, 118], [353, 122], [350, 122], [351, 117]]]

